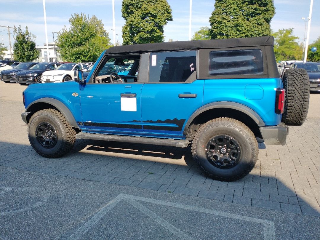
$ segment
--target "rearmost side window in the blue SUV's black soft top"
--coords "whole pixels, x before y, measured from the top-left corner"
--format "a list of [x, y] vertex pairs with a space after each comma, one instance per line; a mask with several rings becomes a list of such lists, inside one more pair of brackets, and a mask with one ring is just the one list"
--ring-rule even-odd
[[209, 53], [209, 74], [211, 76], [262, 73], [263, 61], [260, 49]]

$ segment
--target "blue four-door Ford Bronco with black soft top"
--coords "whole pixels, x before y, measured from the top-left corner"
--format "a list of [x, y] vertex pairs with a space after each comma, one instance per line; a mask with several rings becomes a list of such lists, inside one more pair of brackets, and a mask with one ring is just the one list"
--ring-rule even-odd
[[[285, 145], [309, 104], [304, 69], [279, 75], [271, 36], [136, 44], [104, 51], [84, 80], [30, 84], [23, 92], [28, 137], [41, 156], [68, 153], [76, 139], [186, 148], [210, 177], [237, 180], [258, 143]], [[131, 61], [126, 76], [109, 62]]]

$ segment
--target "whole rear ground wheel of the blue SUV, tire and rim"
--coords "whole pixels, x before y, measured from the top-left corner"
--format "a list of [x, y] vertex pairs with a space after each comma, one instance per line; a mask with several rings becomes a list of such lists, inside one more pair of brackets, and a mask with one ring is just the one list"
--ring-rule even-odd
[[253, 132], [232, 118], [216, 118], [200, 127], [192, 141], [193, 158], [210, 177], [234, 181], [247, 175], [258, 159]]

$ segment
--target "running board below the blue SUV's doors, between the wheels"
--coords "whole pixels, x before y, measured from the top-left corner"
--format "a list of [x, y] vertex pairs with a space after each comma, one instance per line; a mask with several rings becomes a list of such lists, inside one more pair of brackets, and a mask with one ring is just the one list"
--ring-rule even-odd
[[162, 145], [172, 146], [177, 148], [188, 147], [190, 141], [188, 140], [174, 140], [164, 138], [146, 138], [146, 137], [132, 137], [132, 136], [120, 136], [120, 135], [109, 135], [100, 133], [86, 133], [80, 132], [76, 134], [77, 139], [91, 139], [91, 140], [103, 140], [103, 141], [115, 141], [115, 142], [132, 142], [132, 143], [143, 143], [151, 145]]

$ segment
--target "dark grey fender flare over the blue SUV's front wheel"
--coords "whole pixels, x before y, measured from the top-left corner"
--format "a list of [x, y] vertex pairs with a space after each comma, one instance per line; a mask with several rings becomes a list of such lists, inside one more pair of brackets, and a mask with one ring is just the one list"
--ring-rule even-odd
[[48, 104], [52, 105], [53, 107], [57, 108], [63, 114], [63, 116], [66, 118], [66, 120], [68, 121], [68, 123], [72, 127], [79, 128], [79, 126], [76, 122], [76, 119], [74, 118], [74, 116], [71, 113], [71, 111], [69, 110], [69, 108], [67, 108], [67, 106], [65, 104], [63, 104], [62, 102], [60, 102], [59, 100], [56, 100], [54, 98], [41, 98], [41, 99], [38, 99], [38, 100], [31, 102], [28, 105], [28, 107], [26, 108], [26, 113], [30, 112], [30, 107], [32, 105], [34, 105], [36, 103], [42, 103], [42, 102], [48, 103]]

